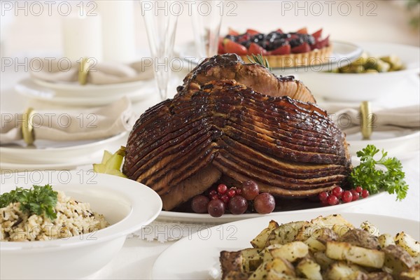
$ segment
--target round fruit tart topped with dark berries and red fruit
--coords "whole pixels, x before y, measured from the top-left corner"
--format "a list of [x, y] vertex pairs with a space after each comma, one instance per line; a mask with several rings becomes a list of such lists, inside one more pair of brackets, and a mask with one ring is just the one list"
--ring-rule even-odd
[[218, 53], [236, 53], [245, 62], [248, 55], [264, 55], [272, 67], [292, 67], [323, 64], [332, 52], [330, 36], [322, 38], [322, 29], [308, 34], [306, 28], [285, 33], [281, 29], [263, 34], [247, 29], [244, 34], [230, 29], [221, 38]]

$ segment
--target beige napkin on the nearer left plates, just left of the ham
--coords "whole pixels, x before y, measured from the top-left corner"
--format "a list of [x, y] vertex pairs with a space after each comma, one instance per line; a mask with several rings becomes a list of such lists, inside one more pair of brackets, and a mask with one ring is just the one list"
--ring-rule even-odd
[[[1, 113], [0, 144], [23, 139], [23, 113]], [[35, 111], [36, 139], [52, 141], [94, 140], [132, 129], [136, 116], [127, 97], [111, 105], [83, 111]]]

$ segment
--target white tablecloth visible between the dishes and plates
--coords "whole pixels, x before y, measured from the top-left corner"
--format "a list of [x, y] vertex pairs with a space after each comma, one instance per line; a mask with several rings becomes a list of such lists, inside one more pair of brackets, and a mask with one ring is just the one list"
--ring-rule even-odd
[[[175, 92], [175, 87], [177, 83], [181, 83], [181, 79], [185, 76], [185, 71], [176, 73], [171, 82], [171, 87], [169, 91]], [[24, 111], [28, 106], [36, 107], [38, 109], [51, 108], [51, 104], [45, 104], [45, 102], [39, 102], [35, 99], [28, 99], [23, 97], [20, 94], [15, 92], [15, 85], [24, 78], [27, 78], [29, 74], [25, 71], [4, 71], [1, 74], [1, 111]], [[417, 86], [419, 88], [419, 80], [413, 79], [412, 83], [414, 88]], [[415, 93], [415, 92], [414, 92]], [[417, 92], [418, 94], [419, 92]], [[398, 93], [398, 100], [395, 102], [389, 102], [389, 100], [379, 99], [374, 104], [386, 108], [392, 108], [395, 106], [405, 106], [419, 104], [418, 95], [413, 94], [413, 92], [401, 91]], [[393, 100], [394, 101], [394, 100]], [[157, 104], [159, 102], [158, 94], [150, 94], [140, 102], [134, 103], [133, 108], [137, 114], [141, 114], [150, 106]], [[321, 102], [325, 102], [322, 101]], [[416, 102], [416, 103], [415, 103]], [[58, 106], [59, 108], [59, 106]], [[124, 146], [126, 143], [126, 137], [123, 139], [118, 139], [116, 143], [112, 143], [109, 146], [109, 151], [118, 150], [119, 146]], [[412, 221], [420, 221], [420, 153], [419, 148], [414, 149], [414, 153], [402, 153], [403, 156], [400, 158], [402, 162], [403, 171], [405, 172], [405, 180], [409, 185], [409, 190], [407, 197], [402, 200], [396, 200], [395, 195], [381, 195], [375, 199], [369, 200], [369, 202], [360, 203], [355, 206], [349, 204], [348, 207], [344, 209], [339, 209], [336, 213], [351, 212], [351, 213], [360, 213], [360, 214], [376, 214], [381, 216], [393, 216], [398, 218], [406, 218]], [[100, 158], [96, 159], [97, 162], [100, 161]], [[92, 162], [94, 163], [94, 162]], [[0, 167], [1, 169], [1, 167]], [[75, 167], [75, 169], [92, 169], [92, 165], [81, 165]], [[1, 169], [1, 172], [10, 172], [10, 169]], [[322, 208], [319, 210], [319, 213], [322, 214]], [[244, 214], [246, 215], [246, 214]], [[279, 215], [287, 215], [279, 213]], [[244, 218], [246, 218], [244, 216]], [[159, 219], [159, 218], [158, 218]], [[217, 218], [215, 218], [217, 219]], [[182, 220], [182, 219], [181, 219]], [[181, 221], [182, 222], [182, 221]], [[179, 237], [175, 238], [167, 235], [175, 235], [174, 231], [171, 230], [172, 227], [179, 228], [179, 225], [174, 223], [168, 223], [167, 227], [162, 227], [162, 223], [165, 224], [165, 221], [162, 221], [160, 225], [152, 224], [147, 228], [148, 231], [139, 232], [137, 235], [131, 235], [125, 241], [123, 249], [113, 258], [108, 265], [103, 267], [101, 270], [87, 276], [86, 279], [151, 279], [151, 269], [153, 263], [158, 258], [160, 253], [165, 251], [165, 249], [172, 246]], [[216, 220], [217, 223], [217, 220]], [[206, 228], [209, 228], [211, 225], [216, 223], [206, 223], [205, 221], [202, 225]], [[183, 225], [181, 223], [181, 225]], [[398, 226], [398, 225], [395, 225]], [[168, 228], [169, 227], [169, 228]], [[200, 228], [200, 227], [199, 227]], [[197, 228], [197, 229], [199, 229]], [[162, 238], [159, 240], [153, 238], [149, 234], [150, 230], [157, 231], [157, 235], [161, 235]], [[420, 230], [420, 229], [419, 229]], [[240, 234], [240, 232], [239, 232]], [[186, 237], [188, 238], [188, 237]]]

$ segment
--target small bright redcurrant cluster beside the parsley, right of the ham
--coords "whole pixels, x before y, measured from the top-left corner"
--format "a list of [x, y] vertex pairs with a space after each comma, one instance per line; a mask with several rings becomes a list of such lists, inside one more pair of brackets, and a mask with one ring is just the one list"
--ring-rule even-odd
[[343, 190], [337, 186], [330, 192], [319, 193], [318, 198], [324, 206], [339, 204], [340, 200], [343, 203], [352, 202], [358, 200], [360, 197], [368, 197], [369, 191], [358, 186], [352, 190]]

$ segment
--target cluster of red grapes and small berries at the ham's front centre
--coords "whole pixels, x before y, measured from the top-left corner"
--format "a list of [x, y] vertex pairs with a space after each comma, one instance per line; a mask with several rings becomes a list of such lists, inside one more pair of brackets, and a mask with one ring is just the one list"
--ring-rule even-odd
[[269, 214], [276, 207], [274, 197], [269, 193], [260, 193], [258, 184], [246, 181], [239, 188], [228, 188], [221, 183], [216, 189], [210, 190], [209, 195], [197, 195], [191, 202], [195, 213], [209, 213], [213, 217], [220, 217], [225, 211], [234, 215], [244, 214], [253, 204], [253, 209], [259, 214]]

